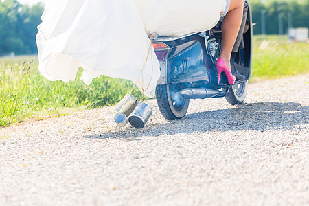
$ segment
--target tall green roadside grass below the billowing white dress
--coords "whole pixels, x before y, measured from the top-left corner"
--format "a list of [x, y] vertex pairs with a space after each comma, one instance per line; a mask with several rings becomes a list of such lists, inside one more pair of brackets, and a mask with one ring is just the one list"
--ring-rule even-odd
[[[82, 69], [75, 82], [51, 82], [38, 73], [36, 56], [0, 58], [0, 62], [0, 126], [113, 105], [133, 87], [126, 80], [107, 77], [96, 78], [88, 87], [78, 80]], [[136, 87], [133, 95], [141, 99]]]

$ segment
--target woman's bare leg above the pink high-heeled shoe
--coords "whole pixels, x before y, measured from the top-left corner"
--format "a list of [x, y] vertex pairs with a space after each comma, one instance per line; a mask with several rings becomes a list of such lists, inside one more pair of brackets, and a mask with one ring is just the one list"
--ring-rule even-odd
[[231, 0], [229, 12], [222, 23], [222, 52], [220, 57], [225, 60], [229, 69], [231, 69], [231, 52], [235, 44], [244, 10], [244, 0]]

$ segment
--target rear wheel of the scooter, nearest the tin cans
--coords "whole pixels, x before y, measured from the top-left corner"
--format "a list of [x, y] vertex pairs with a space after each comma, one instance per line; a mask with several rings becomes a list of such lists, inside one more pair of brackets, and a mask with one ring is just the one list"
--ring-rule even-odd
[[[175, 120], [185, 117], [190, 100], [185, 100], [180, 95], [177, 96], [179, 91], [180, 89], [175, 84], [157, 85], [157, 103], [165, 119]], [[178, 101], [175, 99], [178, 99]]]

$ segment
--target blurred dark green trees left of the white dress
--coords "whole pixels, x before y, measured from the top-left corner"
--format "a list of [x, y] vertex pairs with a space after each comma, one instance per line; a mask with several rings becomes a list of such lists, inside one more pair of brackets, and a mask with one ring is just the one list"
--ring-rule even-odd
[[0, 55], [36, 53], [36, 27], [42, 13], [41, 4], [29, 7], [17, 0], [0, 1]]

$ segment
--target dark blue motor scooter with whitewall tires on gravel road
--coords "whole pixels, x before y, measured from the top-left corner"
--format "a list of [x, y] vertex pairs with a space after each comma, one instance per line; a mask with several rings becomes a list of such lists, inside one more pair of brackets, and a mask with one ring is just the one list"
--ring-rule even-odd
[[236, 82], [230, 85], [222, 73], [218, 84], [216, 60], [222, 47], [222, 22], [205, 32], [185, 36], [158, 36], [153, 42], [160, 62], [161, 77], [156, 98], [159, 110], [168, 120], [181, 119], [191, 99], [223, 98], [241, 104], [247, 95], [252, 67], [252, 19], [249, 2], [231, 54], [231, 71]]

